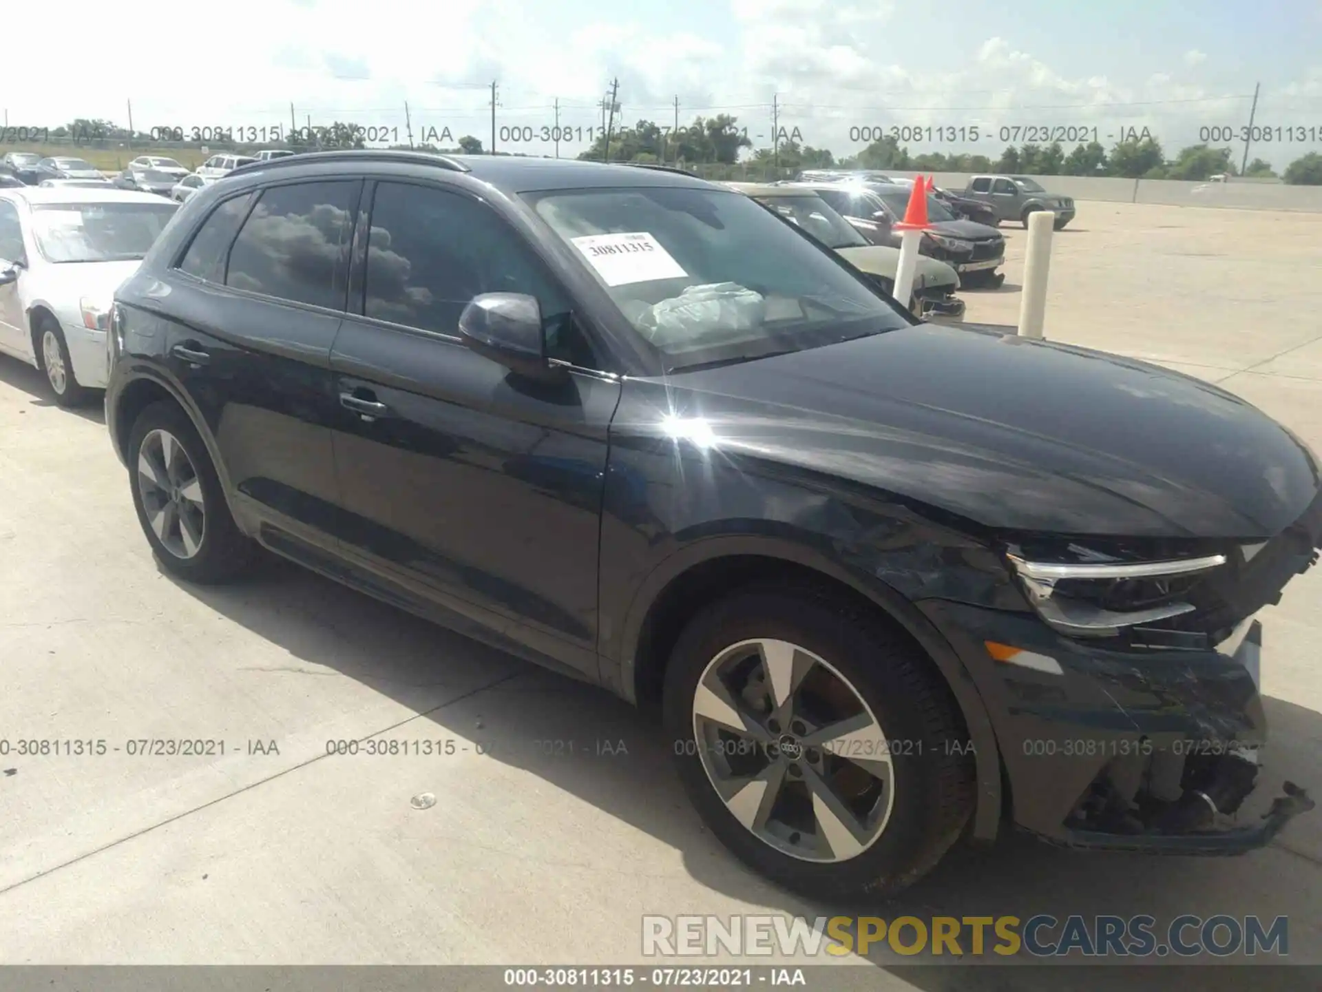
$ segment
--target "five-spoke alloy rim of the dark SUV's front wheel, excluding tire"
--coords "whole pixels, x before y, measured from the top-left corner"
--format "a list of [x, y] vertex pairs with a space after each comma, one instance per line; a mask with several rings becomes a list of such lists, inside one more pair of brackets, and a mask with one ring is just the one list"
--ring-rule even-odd
[[693, 698], [702, 767], [754, 836], [804, 861], [847, 861], [886, 831], [895, 774], [880, 722], [841, 672], [785, 640], [744, 640]]

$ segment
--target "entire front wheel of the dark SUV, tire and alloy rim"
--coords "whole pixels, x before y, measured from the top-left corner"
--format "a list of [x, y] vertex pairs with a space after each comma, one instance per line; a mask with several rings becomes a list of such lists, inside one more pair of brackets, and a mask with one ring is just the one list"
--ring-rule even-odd
[[810, 587], [750, 587], [685, 628], [666, 738], [713, 833], [809, 898], [890, 895], [973, 808], [949, 689], [890, 622]]

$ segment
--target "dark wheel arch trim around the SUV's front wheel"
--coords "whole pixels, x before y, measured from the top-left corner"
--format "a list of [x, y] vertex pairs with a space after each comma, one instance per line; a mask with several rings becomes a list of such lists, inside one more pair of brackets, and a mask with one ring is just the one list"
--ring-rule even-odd
[[619, 655], [623, 693], [640, 708], [657, 708], [670, 651], [687, 619], [714, 595], [776, 578], [813, 583], [866, 603], [898, 624], [927, 653], [945, 680], [973, 743], [977, 775], [973, 836], [993, 840], [1005, 796], [1001, 754], [982, 697], [954, 648], [898, 591], [804, 545], [768, 537], [707, 538], [661, 562], [644, 579], [624, 619]]

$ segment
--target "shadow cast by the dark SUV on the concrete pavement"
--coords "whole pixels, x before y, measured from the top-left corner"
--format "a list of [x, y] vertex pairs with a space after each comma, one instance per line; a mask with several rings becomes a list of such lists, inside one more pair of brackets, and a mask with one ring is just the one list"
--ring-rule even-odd
[[[724, 897], [751, 903], [755, 909], [748, 911], [752, 913], [801, 914], [809, 919], [837, 914], [884, 919], [908, 915], [924, 921], [1002, 915], [1026, 921], [1038, 914], [1063, 921], [1071, 914], [1081, 914], [1089, 923], [1097, 914], [1124, 918], [1149, 914], [1158, 921], [1182, 913], [1204, 918], [1259, 914], [1266, 925], [1277, 915], [1286, 915], [1294, 927], [1293, 959], [1322, 962], [1313, 923], [1322, 919], [1322, 893], [1314, 893], [1303, 873], [1322, 864], [1322, 844], [1315, 843], [1315, 831], [1297, 848], [1282, 848], [1282, 839], [1278, 839], [1268, 850], [1240, 858], [1089, 854], [1010, 835], [992, 848], [956, 847], [931, 874], [899, 898], [813, 905], [744, 869], [720, 847], [702, 825], [672, 770], [657, 718], [604, 689], [520, 661], [274, 557], [263, 561], [256, 574], [230, 586], [201, 587], [171, 581], [303, 663], [328, 667], [354, 679], [412, 709], [419, 720], [447, 735], [481, 745], [489, 761], [521, 768], [646, 832], [681, 852], [685, 869], [695, 881]], [[440, 665], [455, 667], [451, 675], [464, 668], [489, 673], [484, 681], [486, 688], [438, 706], [435, 685]], [[1322, 716], [1270, 698], [1268, 716], [1277, 733], [1285, 735], [1281, 746], [1311, 753], [1315, 758], [1318, 742], [1322, 742]], [[397, 723], [389, 730], [398, 737], [402, 727]], [[430, 727], [419, 730], [419, 737], [432, 733]], [[1301, 780], [1300, 784], [1309, 787], [1313, 783]], [[1288, 828], [1285, 841], [1290, 840], [1290, 829], [1298, 829], [1298, 823]], [[1307, 841], [1314, 849], [1302, 849], [1309, 847]], [[709, 910], [656, 906], [650, 911], [701, 914]], [[1314, 926], [1311, 932], [1310, 926]], [[964, 931], [965, 939], [968, 932]], [[1314, 946], [1303, 946], [1310, 939]], [[641, 946], [641, 921], [639, 940]], [[989, 929], [986, 946], [993, 944]], [[964, 944], [962, 950], [969, 955], [972, 948]], [[1017, 962], [1027, 960], [1039, 967], [1017, 967], [1007, 972], [992, 967], [1009, 963], [994, 954], [977, 959], [969, 955], [964, 966], [935, 967], [933, 963], [941, 959], [927, 954], [903, 956], [884, 946], [874, 946], [866, 960], [887, 971], [895, 970], [896, 979], [902, 976], [903, 981], [933, 992], [953, 988], [989, 992], [1079, 988], [1091, 992], [1120, 983], [1128, 989], [1169, 988], [1174, 977], [1166, 968], [1099, 966], [1079, 971], [1040, 967], [1038, 959], [1022, 952]], [[973, 960], [982, 964], [973, 964]], [[1069, 963], [1079, 960], [1079, 954], [1072, 954]], [[668, 959], [665, 963], [685, 962]], [[1260, 989], [1297, 987], [1286, 979], [1293, 980], [1302, 972], [1281, 972], [1286, 984], [1269, 980], [1269, 975], [1276, 973], [1276, 970], [1259, 968], [1253, 985]], [[1244, 988], [1245, 981], [1248, 977], [1237, 968], [1202, 967], [1194, 984], [1200, 989], [1229, 989]]]

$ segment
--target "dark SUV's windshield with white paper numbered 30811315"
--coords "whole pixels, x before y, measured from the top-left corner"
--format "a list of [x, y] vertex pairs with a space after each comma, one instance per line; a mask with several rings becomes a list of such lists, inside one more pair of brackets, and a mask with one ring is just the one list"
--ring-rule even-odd
[[742, 193], [662, 186], [527, 198], [668, 372], [908, 327], [830, 253]]

